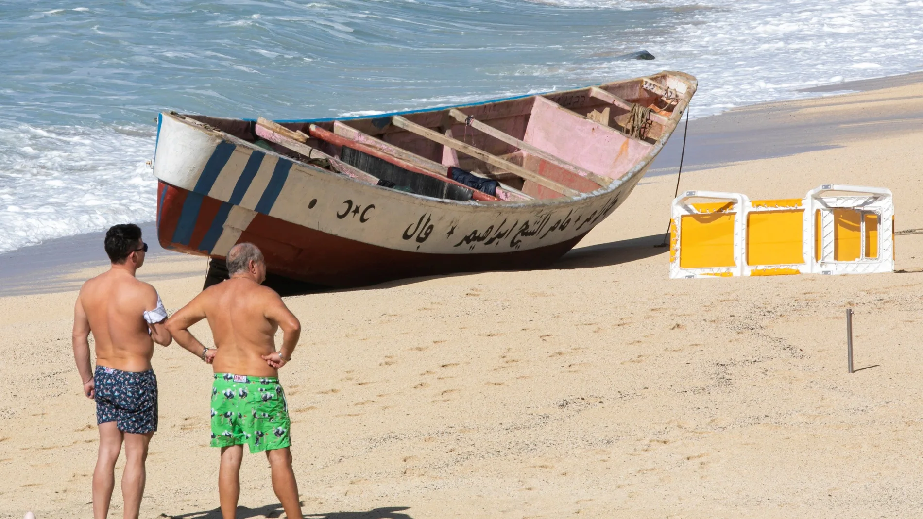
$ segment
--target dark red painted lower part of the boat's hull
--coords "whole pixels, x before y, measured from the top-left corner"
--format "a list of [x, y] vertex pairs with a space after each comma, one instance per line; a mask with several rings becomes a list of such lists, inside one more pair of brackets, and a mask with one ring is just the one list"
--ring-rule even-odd
[[[198, 247], [219, 213], [222, 201], [203, 197], [188, 244], [173, 242], [188, 191], [160, 182], [158, 239], [166, 249], [210, 255]], [[270, 273], [326, 287], [361, 287], [401, 279], [456, 272], [524, 270], [550, 265], [567, 253], [581, 234], [566, 242], [498, 254], [423, 254], [357, 242], [258, 214], [238, 242], [256, 244]], [[213, 256], [221, 257], [221, 256]]]

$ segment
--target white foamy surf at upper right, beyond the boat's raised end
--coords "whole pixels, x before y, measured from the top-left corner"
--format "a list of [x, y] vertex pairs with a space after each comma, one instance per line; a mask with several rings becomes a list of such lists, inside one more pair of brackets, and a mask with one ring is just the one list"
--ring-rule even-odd
[[[559, 6], [589, 5], [583, 0], [549, 1]], [[679, 7], [686, 3], [644, 4]], [[705, 0], [689, 20], [693, 23], [636, 42], [638, 48], [653, 53], [656, 61], [594, 63], [579, 65], [580, 71], [560, 65], [528, 65], [508, 74], [573, 77], [582, 72], [593, 79], [610, 80], [661, 69], [682, 70], [699, 79], [690, 113], [701, 117], [756, 102], [817, 95], [799, 92], [801, 88], [917, 70], [923, 65], [919, 4], [899, 0]]]

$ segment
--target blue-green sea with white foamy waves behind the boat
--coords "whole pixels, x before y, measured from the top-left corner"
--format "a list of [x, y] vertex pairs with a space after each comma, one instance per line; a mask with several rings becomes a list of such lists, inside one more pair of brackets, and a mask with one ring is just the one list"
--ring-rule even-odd
[[[653, 61], [618, 59], [646, 50]], [[693, 117], [923, 65], [902, 0], [0, 3], [0, 252], [154, 218], [157, 112], [363, 115], [699, 78]]]

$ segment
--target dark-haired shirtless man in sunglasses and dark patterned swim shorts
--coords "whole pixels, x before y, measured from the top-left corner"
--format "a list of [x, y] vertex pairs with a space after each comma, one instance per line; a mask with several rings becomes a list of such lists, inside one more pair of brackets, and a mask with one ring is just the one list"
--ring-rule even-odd
[[[148, 244], [135, 224], [116, 225], [105, 238], [112, 266], [83, 284], [74, 307], [74, 358], [83, 393], [96, 400], [100, 452], [93, 470], [93, 517], [109, 513], [115, 460], [125, 442], [124, 516], [137, 519], [144, 494], [144, 462], [157, 431], [157, 378], [150, 368], [154, 342], [168, 346], [167, 314], [157, 290], [138, 281]], [[90, 371], [90, 332], [96, 372]]]

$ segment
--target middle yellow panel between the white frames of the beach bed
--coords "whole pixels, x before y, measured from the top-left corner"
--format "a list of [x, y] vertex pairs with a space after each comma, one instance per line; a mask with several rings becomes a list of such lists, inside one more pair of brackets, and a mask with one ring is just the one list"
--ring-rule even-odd
[[747, 215], [747, 265], [805, 262], [801, 225], [804, 211], [759, 211]]

